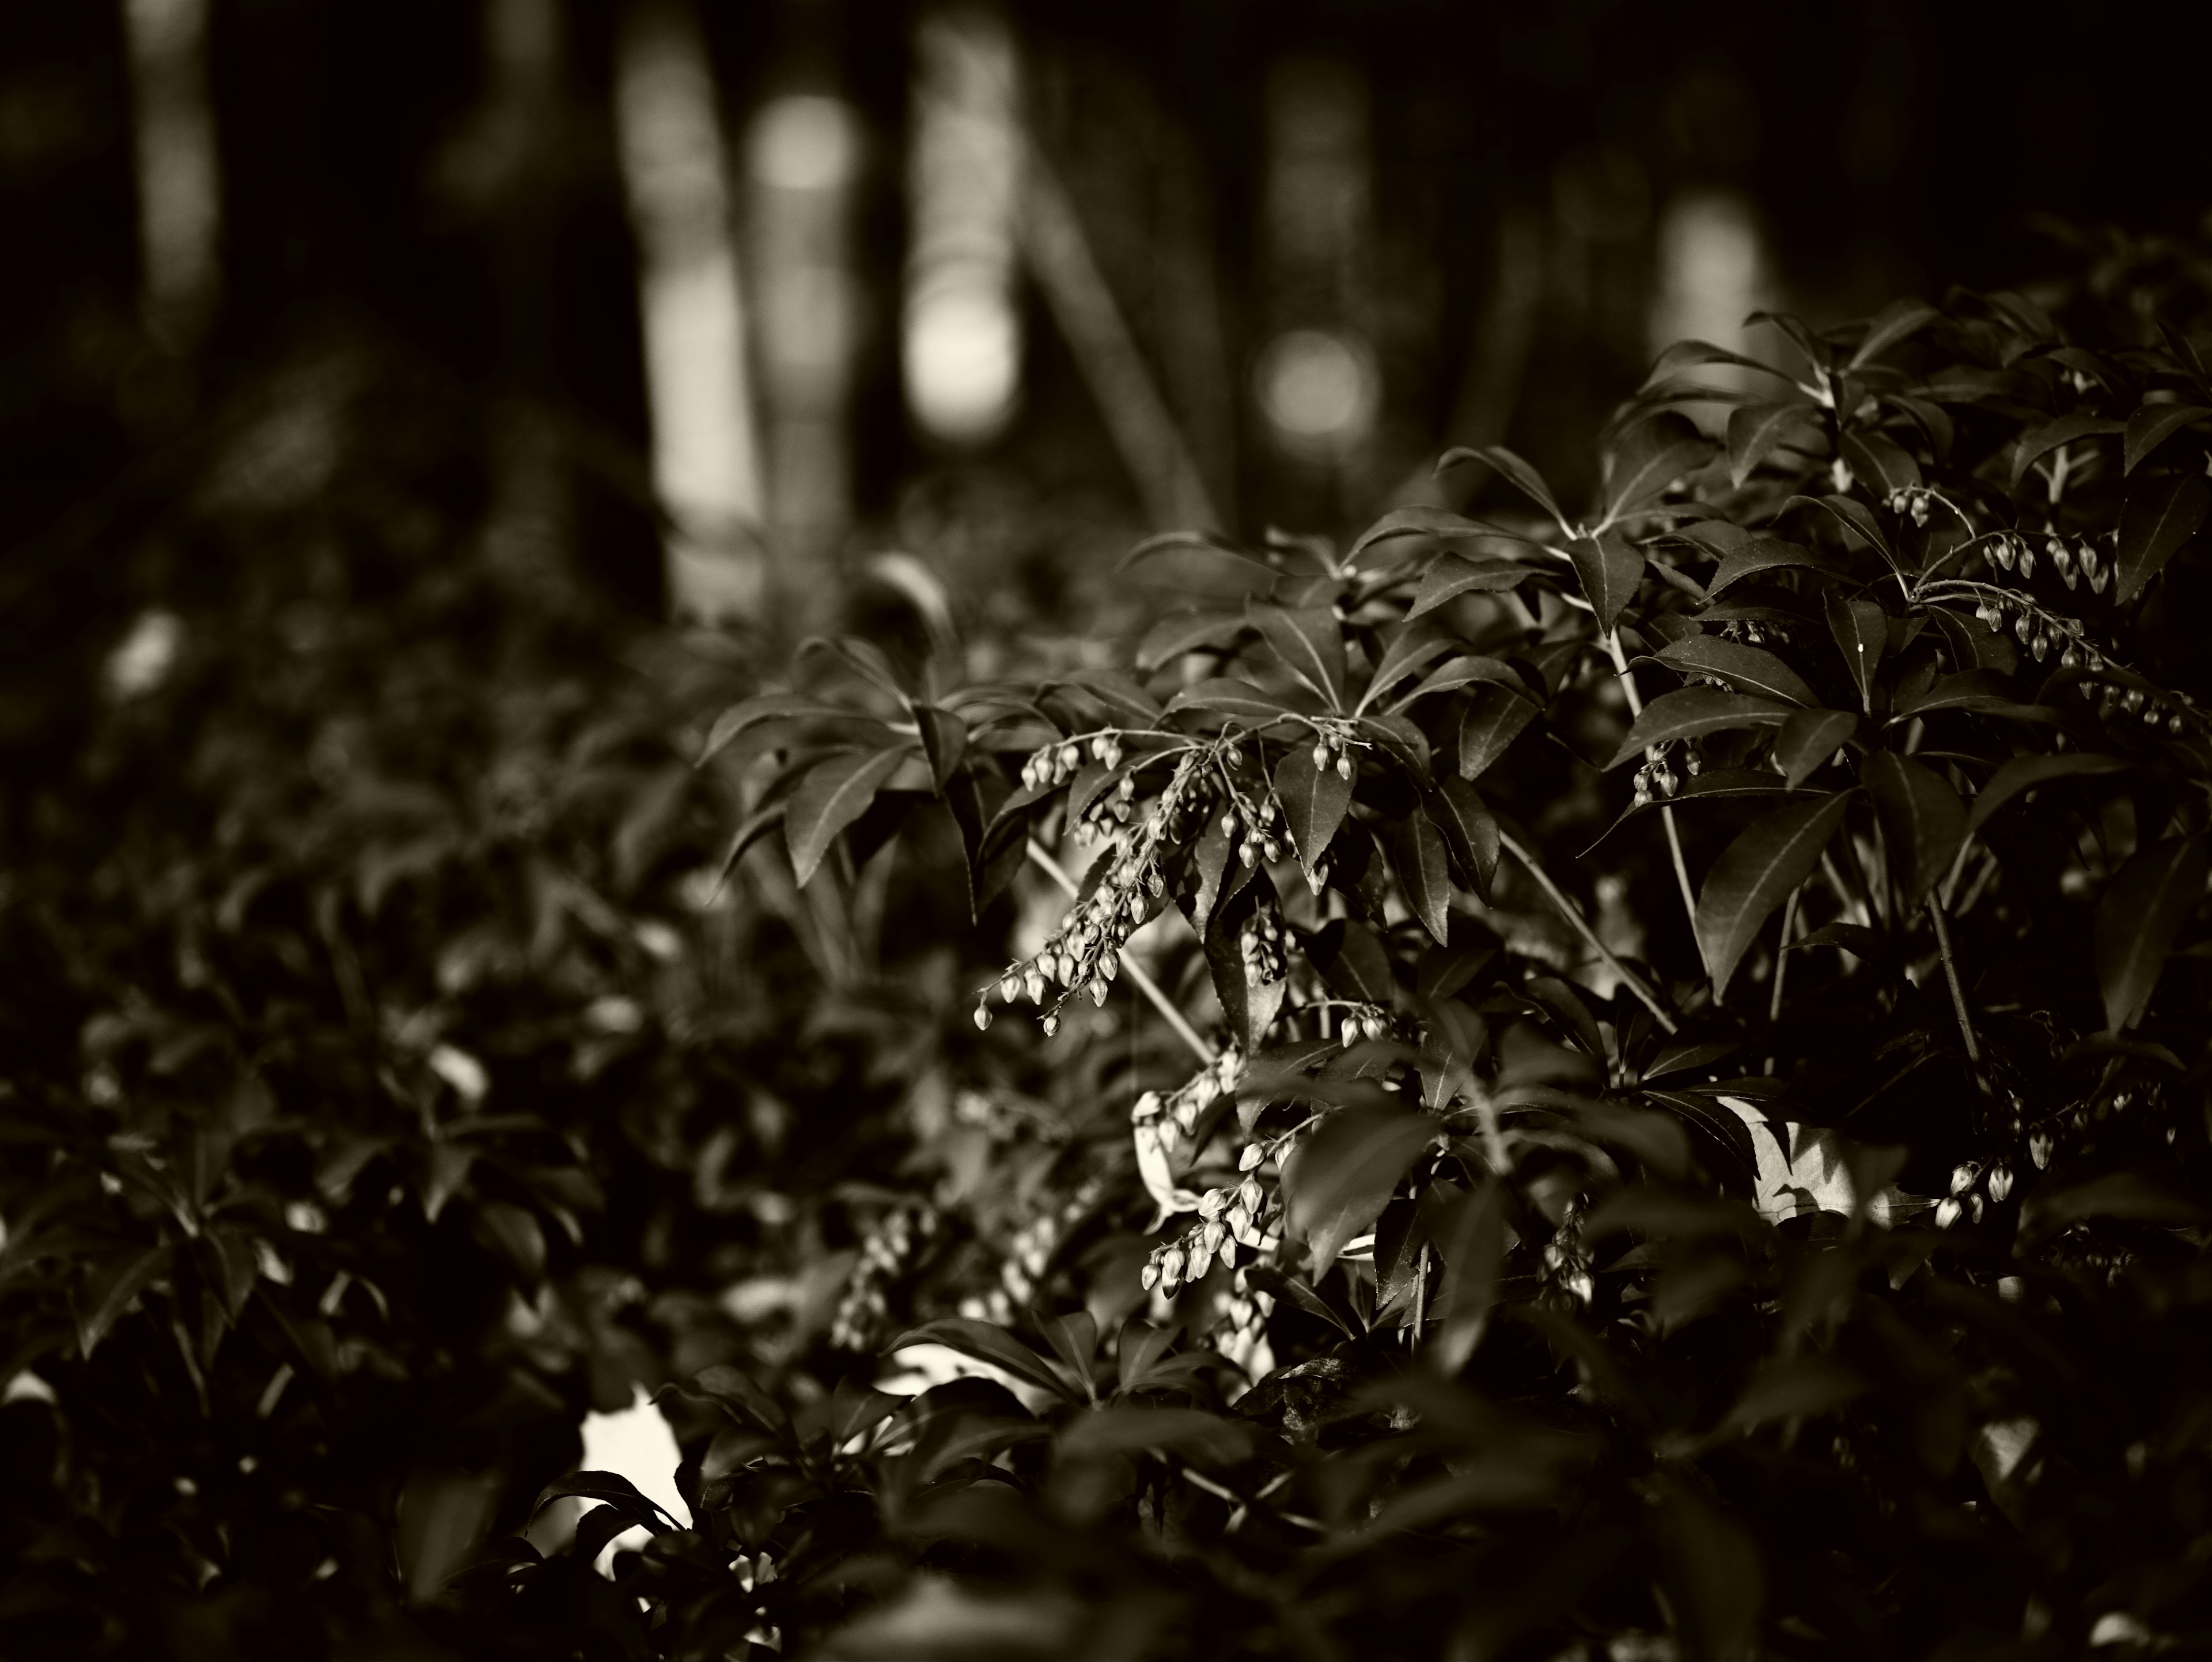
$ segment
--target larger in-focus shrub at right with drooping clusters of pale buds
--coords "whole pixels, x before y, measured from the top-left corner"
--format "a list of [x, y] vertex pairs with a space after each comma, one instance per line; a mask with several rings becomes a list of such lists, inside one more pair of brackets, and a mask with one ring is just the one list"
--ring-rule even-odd
[[668, 1392], [695, 1516], [580, 1474], [473, 1585], [641, 1523], [586, 1655], [2199, 1644], [2212, 378], [2143, 316], [1772, 319], [1579, 511], [1453, 451], [1520, 509], [1157, 538], [1237, 589], [1110, 664], [805, 651], [732, 863], [1071, 898], [830, 1348]]

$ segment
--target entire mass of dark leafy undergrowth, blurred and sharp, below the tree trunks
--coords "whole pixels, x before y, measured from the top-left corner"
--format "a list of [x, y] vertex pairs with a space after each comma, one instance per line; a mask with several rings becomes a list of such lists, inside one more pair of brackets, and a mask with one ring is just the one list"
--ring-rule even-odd
[[2201, 1644], [2192, 270], [770, 690], [314, 383], [9, 828], [9, 1649]]

